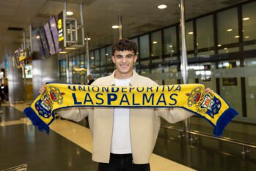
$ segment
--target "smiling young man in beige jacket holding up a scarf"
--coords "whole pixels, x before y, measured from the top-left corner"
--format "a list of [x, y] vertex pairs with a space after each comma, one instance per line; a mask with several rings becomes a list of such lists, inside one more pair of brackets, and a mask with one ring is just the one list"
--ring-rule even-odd
[[[137, 60], [135, 42], [118, 40], [112, 45], [111, 59], [117, 69], [95, 80], [93, 86], [158, 86], [133, 70]], [[44, 91], [45, 86], [42, 86], [40, 93]], [[78, 107], [59, 110], [58, 114], [73, 121], [89, 116], [92, 160], [99, 162], [99, 171], [150, 170], [150, 154], [158, 137], [160, 117], [175, 123], [193, 115], [180, 108], [153, 107]]]

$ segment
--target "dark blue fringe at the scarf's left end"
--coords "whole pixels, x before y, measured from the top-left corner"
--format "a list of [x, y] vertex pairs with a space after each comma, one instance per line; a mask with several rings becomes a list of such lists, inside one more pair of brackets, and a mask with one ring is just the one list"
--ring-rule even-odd
[[32, 110], [31, 107], [26, 107], [26, 109], [23, 111], [23, 113], [25, 113], [25, 115], [30, 119], [30, 121], [32, 121], [34, 126], [37, 126], [37, 129], [42, 132], [42, 131], [46, 131], [47, 134], [49, 134], [50, 129], [49, 126], [44, 123], [38, 116], [36, 113], [34, 113], [34, 110]]

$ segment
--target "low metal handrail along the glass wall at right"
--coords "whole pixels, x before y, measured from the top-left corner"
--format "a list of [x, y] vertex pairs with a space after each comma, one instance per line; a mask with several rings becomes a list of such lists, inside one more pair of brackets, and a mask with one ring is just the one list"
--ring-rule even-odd
[[[184, 132], [183, 129], [178, 129], [178, 128], [175, 128], [174, 126], [161, 125], [161, 127], [165, 128], [165, 129], [172, 129], [172, 130], [175, 130], [175, 131], [178, 131], [178, 132]], [[196, 130], [191, 130], [191, 131], [188, 131], [187, 133], [196, 134], [196, 135], [199, 135], [201, 137], [208, 137], [208, 138], [211, 138], [211, 139], [214, 139], [214, 140], [222, 140], [222, 141], [230, 142], [230, 143], [233, 143], [233, 144], [236, 144], [236, 145], [243, 145], [243, 146], [246, 146], [246, 147], [249, 147], [249, 148], [256, 148], [255, 144], [249, 144], [249, 143], [246, 143], [246, 142], [233, 140], [232, 138], [229, 138], [229, 137], [214, 137], [211, 134], [205, 134], [205, 133], [202, 133], [202, 132], [199, 132], [199, 131], [196, 131]]]

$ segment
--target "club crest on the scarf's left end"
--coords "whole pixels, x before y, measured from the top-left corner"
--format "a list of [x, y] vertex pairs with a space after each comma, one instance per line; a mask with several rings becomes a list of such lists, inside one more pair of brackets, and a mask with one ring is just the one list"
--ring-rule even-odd
[[54, 102], [62, 104], [63, 96], [65, 93], [61, 93], [59, 88], [54, 86], [49, 86], [49, 91], [46, 91], [45, 94], [42, 94], [41, 98], [35, 103], [35, 108], [38, 111], [39, 115], [44, 118], [51, 117], [51, 108]]

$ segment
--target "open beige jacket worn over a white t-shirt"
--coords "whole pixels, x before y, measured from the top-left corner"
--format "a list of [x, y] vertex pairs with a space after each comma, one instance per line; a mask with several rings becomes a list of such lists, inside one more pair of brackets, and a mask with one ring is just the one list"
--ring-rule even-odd
[[[107, 77], [100, 77], [92, 83], [93, 86], [114, 86], [114, 72]], [[138, 75], [135, 71], [131, 77], [130, 86], [158, 86], [148, 77]], [[62, 118], [81, 121], [89, 116], [89, 126], [92, 131], [92, 160], [109, 163], [111, 139], [113, 131], [113, 107], [74, 107], [59, 110]], [[181, 108], [130, 108], [131, 148], [135, 164], [147, 164], [150, 154], [156, 144], [160, 129], [160, 117], [169, 123], [189, 118], [193, 113]]]

